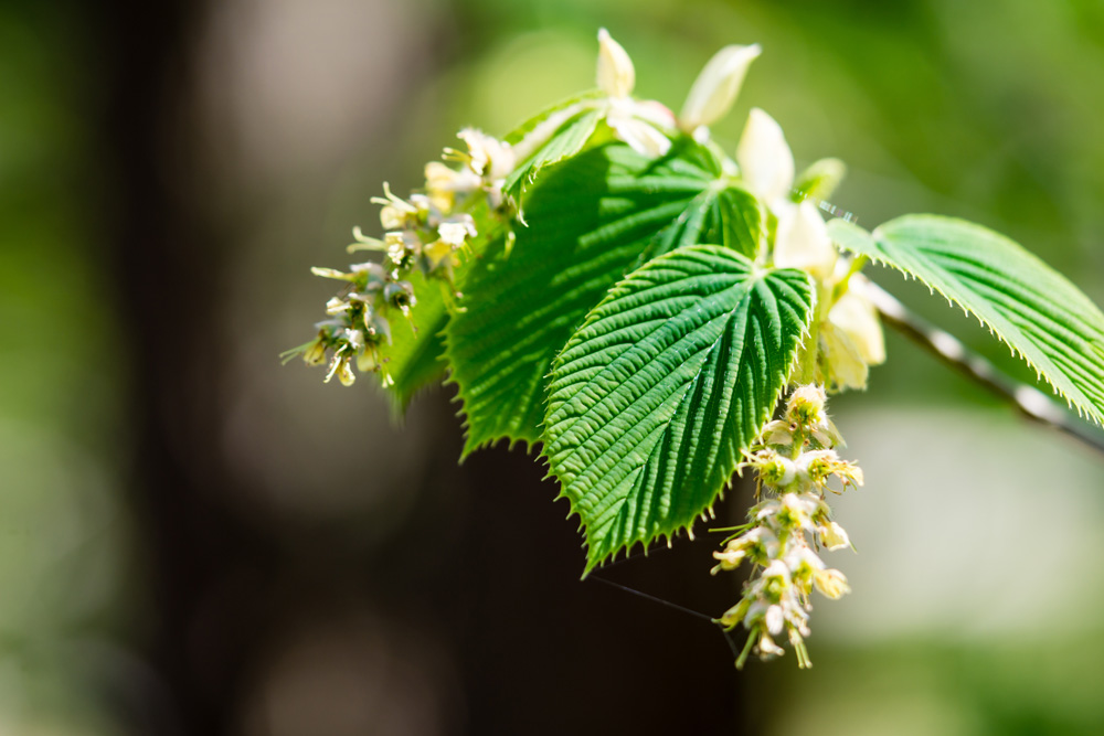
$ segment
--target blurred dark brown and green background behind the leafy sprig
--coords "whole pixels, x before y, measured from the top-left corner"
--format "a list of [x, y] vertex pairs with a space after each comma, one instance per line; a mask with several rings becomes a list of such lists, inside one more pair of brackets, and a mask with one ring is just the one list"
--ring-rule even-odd
[[[901, 339], [832, 404], [868, 482], [810, 672], [578, 582], [534, 458], [457, 466], [452, 391], [395, 423], [279, 366], [381, 182], [591, 86], [601, 25], [676, 108], [762, 43], [715, 137], [763, 107], [860, 224], [969, 217], [1104, 301], [1098, 0], [4, 0], [0, 734], [1104, 733], [1102, 458]], [[715, 541], [599, 576], [716, 616]]]

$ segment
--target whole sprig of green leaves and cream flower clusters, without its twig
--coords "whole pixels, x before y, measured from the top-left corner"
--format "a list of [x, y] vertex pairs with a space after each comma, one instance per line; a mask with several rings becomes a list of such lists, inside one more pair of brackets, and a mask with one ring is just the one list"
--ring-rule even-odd
[[[449, 371], [465, 456], [503, 439], [543, 445], [580, 515], [586, 572], [689, 530], [739, 467], [773, 494], [756, 513], [806, 515], [793, 550], [813, 554], [806, 533], [817, 535], [814, 546], [847, 546], [824, 483], [835, 474], [859, 486], [862, 474], [836, 454], [826, 386], [790, 394], [787, 412], [804, 407], [808, 427], [787, 418], [760, 439], [787, 384], [864, 387], [869, 366], [884, 360], [874, 302], [849, 280], [864, 260], [837, 268], [847, 264], [836, 246], [973, 312], [1104, 422], [1104, 314], [1020, 246], [933, 215], [872, 234], [842, 220], [826, 228], [803, 200], [828, 198], [842, 162], [822, 159], [795, 178], [781, 126], [761, 109], [734, 157], [710, 142], [705, 126], [732, 105], [757, 46], [721, 50], [678, 118], [633, 97], [627, 52], [605, 31], [598, 40], [598, 90], [503, 140], [465, 129], [467, 151], [446, 150], [457, 166], [427, 164], [425, 188], [408, 201], [385, 188], [374, 201], [388, 232], [358, 234], [358, 249], [380, 260], [316, 269], [343, 291], [327, 303], [332, 319], [315, 341], [293, 353], [311, 365], [328, 360], [326, 380], [346, 385], [353, 365], [382, 373], [403, 406]], [[802, 488], [809, 498], [794, 494]], [[729, 541], [719, 567], [739, 566], [758, 544], [752, 531], [744, 537]], [[787, 636], [807, 666], [803, 601], [814, 585], [838, 598], [846, 577], [815, 555], [815, 564], [794, 562], [784, 545], [761, 552], [757, 569], [774, 570], [745, 586], [724, 626], [742, 622], [747, 647], [777, 654], [777, 614], [766, 611], [785, 602]]]

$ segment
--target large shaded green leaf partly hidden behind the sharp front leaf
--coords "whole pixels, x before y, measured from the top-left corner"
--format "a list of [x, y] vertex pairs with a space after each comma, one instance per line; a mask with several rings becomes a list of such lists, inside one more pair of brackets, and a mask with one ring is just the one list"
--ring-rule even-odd
[[[535, 442], [555, 354], [645, 252], [665, 253], [747, 227], [725, 242], [762, 237], [758, 204], [719, 180], [712, 157], [686, 139], [652, 160], [620, 143], [550, 167], [507, 254], [488, 249], [460, 284], [465, 311], [445, 329], [446, 354], [467, 416], [465, 454], [498, 439]], [[742, 205], [737, 203], [743, 203]], [[733, 213], [732, 207], [749, 207]], [[723, 222], [718, 213], [724, 214]], [[755, 223], [752, 230], [749, 223]]]

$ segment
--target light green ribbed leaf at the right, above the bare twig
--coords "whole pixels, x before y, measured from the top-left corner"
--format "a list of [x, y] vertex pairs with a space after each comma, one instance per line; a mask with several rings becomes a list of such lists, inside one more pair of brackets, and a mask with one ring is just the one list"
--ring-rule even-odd
[[1104, 314], [1004, 235], [962, 220], [906, 215], [873, 233], [842, 220], [832, 238], [914, 276], [981, 320], [1058, 394], [1104, 423]]

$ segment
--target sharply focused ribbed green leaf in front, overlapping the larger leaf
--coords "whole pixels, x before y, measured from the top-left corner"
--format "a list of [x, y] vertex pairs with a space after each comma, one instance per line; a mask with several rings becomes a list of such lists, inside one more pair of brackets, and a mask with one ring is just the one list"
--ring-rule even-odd
[[771, 418], [813, 316], [809, 277], [719, 246], [646, 264], [556, 358], [544, 455], [590, 572], [705, 513]]

